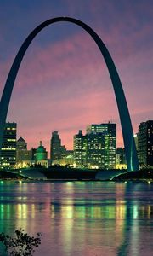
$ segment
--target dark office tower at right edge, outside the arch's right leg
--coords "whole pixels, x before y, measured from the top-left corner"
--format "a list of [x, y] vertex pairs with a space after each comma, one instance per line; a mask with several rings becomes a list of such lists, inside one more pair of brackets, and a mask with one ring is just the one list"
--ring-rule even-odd
[[139, 165], [153, 166], [153, 120], [139, 125]]

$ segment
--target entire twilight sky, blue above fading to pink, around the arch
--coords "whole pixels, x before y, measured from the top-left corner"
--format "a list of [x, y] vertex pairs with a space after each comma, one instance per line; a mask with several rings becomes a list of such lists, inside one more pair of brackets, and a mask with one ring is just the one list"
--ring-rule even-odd
[[[122, 81], [133, 132], [153, 119], [152, 0], [0, 0], [0, 94], [28, 34], [43, 21], [70, 16], [91, 26], [108, 48]], [[20, 65], [8, 109], [17, 137], [28, 148], [39, 141], [49, 151], [52, 131], [73, 147], [87, 125], [117, 124], [122, 131], [111, 79], [94, 40], [68, 22], [48, 26], [32, 41]]]

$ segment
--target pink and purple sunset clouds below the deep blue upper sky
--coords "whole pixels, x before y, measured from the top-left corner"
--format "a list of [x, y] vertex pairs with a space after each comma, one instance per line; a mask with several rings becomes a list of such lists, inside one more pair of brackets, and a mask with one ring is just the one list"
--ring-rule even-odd
[[[96, 19], [95, 14], [101, 12], [99, 5], [95, 4], [92, 11], [91, 3], [94, 4], [90, 2], [88, 12], [94, 19], [92, 27], [104, 38], [121, 74], [136, 130], [139, 122], [150, 116], [152, 109], [150, 25], [144, 23], [140, 29], [138, 17], [123, 12], [127, 24], [119, 17], [115, 19], [114, 14], [112, 20], [115, 19], [116, 23], [109, 24], [107, 28], [101, 25], [103, 22], [99, 15]], [[96, 3], [100, 4], [99, 1]], [[113, 8], [107, 7], [112, 15]], [[44, 138], [48, 148], [51, 131], [58, 130], [63, 142], [71, 148], [72, 136], [79, 129], [85, 131], [85, 127], [91, 123], [113, 119], [118, 124], [118, 142], [121, 144], [121, 128], [111, 79], [94, 41], [80, 30], [53, 43], [41, 42], [38, 38], [27, 50], [10, 103], [8, 119], [17, 120], [20, 135], [27, 137], [31, 146], [37, 145], [39, 137]], [[5, 62], [0, 60], [1, 90], [12, 60], [13, 55]], [[148, 90], [144, 90], [144, 86]]]

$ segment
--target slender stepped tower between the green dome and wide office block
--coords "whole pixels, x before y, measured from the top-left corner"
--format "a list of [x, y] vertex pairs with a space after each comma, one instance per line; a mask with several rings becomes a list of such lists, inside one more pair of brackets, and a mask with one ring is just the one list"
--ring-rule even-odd
[[65, 146], [61, 145], [58, 131], [53, 131], [50, 141], [50, 159], [52, 161], [60, 160], [65, 154], [66, 149]]

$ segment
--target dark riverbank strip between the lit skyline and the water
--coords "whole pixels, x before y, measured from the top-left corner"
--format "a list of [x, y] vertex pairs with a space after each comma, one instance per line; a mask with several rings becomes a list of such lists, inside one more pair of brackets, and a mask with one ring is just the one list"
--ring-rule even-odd
[[127, 172], [126, 170], [89, 170], [71, 168], [29, 168], [0, 171], [0, 179], [63, 180], [63, 181], [153, 181], [153, 170]]

